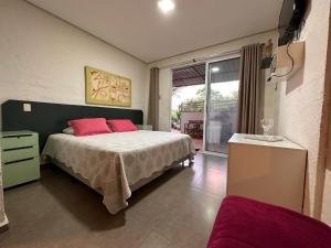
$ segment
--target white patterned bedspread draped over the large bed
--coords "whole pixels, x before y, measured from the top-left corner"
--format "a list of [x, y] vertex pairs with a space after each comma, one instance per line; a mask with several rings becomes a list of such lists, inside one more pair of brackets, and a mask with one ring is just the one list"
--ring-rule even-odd
[[140, 130], [88, 137], [52, 134], [42, 154], [65, 163], [93, 188], [102, 190], [104, 204], [116, 214], [128, 205], [129, 185], [194, 153], [186, 134]]

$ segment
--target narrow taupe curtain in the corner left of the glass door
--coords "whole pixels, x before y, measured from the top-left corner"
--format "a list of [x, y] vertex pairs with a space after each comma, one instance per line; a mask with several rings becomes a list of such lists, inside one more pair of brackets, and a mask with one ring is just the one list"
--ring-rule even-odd
[[157, 67], [150, 69], [147, 123], [152, 125], [153, 130], [159, 130], [159, 68]]

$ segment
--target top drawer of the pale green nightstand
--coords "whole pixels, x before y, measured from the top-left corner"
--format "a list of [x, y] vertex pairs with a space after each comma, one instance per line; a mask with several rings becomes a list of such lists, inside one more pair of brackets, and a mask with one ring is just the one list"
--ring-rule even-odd
[[22, 136], [3, 136], [1, 139], [1, 149], [22, 148], [38, 144], [38, 134], [22, 134]]

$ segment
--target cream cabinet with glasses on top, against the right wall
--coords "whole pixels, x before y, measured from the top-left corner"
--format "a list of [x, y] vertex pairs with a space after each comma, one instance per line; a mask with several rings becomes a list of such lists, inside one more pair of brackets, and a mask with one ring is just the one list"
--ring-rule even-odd
[[239, 195], [302, 213], [307, 150], [284, 139], [228, 141], [227, 195]]

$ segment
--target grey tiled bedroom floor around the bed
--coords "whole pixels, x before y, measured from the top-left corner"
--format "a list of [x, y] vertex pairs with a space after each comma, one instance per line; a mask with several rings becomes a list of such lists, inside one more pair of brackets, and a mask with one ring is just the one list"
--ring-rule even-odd
[[197, 154], [135, 192], [113, 216], [93, 190], [57, 168], [4, 192], [10, 230], [0, 247], [203, 248], [225, 194], [226, 160]]

